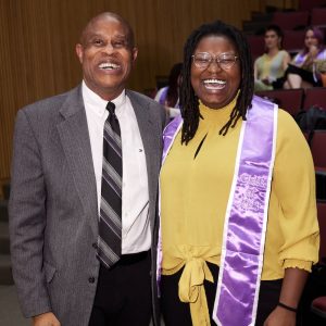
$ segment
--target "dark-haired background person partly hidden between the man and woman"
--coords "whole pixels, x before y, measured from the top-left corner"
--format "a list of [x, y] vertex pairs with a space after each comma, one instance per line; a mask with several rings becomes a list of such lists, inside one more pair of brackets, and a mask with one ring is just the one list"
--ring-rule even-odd
[[183, 64], [176, 63], [173, 65], [168, 76], [168, 85], [159, 89], [155, 101], [166, 108], [170, 118], [175, 117], [180, 113], [179, 106], [179, 85]]

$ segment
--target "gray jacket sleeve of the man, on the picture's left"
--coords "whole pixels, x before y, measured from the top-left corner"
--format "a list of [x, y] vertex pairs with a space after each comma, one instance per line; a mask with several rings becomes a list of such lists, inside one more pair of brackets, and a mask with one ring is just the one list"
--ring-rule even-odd
[[28, 112], [21, 110], [14, 130], [9, 226], [13, 277], [26, 317], [51, 311], [42, 259], [46, 190], [39, 143]]

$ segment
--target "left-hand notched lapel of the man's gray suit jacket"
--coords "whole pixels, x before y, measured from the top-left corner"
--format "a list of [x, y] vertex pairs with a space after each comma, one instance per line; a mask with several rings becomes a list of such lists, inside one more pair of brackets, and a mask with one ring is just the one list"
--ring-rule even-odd
[[64, 117], [64, 121], [58, 124], [62, 147], [85, 214], [95, 217], [90, 218], [90, 225], [97, 235], [97, 187], [82, 87], [71, 91], [60, 113]]

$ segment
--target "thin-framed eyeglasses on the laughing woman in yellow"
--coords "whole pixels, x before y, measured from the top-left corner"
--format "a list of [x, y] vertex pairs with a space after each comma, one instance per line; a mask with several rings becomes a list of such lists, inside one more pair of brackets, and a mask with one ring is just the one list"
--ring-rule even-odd
[[238, 57], [233, 53], [221, 53], [212, 55], [208, 52], [199, 52], [192, 57], [193, 64], [199, 68], [206, 68], [212, 61], [216, 62], [222, 70], [229, 70], [238, 60]]

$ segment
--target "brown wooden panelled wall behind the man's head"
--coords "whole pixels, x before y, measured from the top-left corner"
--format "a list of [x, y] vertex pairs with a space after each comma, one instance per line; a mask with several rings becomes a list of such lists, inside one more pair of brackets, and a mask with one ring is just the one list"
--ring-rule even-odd
[[[155, 87], [181, 60], [183, 45], [203, 22], [241, 28], [256, 0], [0, 0], [0, 179], [10, 175], [16, 111], [80, 82], [75, 43], [86, 22], [103, 11], [123, 15], [135, 29], [139, 57], [129, 86]], [[239, 10], [239, 7], [241, 10]]]

